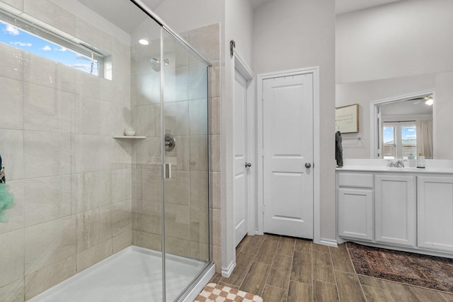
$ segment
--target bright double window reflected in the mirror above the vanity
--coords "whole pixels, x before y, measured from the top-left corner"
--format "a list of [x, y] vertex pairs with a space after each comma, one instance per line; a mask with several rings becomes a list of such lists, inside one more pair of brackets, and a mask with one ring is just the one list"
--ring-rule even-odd
[[383, 122], [384, 158], [408, 158], [417, 154], [415, 122]]

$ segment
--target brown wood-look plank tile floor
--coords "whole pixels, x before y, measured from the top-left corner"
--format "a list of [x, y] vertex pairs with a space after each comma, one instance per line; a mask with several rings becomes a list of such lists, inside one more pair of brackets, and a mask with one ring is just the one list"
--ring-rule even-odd
[[211, 282], [263, 297], [264, 302], [453, 302], [453, 294], [357, 275], [345, 244], [265, 234], [246, 236], [236, 248], [229, 278]]

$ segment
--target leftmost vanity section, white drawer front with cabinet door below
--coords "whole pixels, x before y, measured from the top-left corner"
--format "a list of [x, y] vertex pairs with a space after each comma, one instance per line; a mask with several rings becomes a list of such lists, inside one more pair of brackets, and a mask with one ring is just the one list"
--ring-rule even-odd
[[373, 175], [338, 173], [338, 236], [373, 240]]

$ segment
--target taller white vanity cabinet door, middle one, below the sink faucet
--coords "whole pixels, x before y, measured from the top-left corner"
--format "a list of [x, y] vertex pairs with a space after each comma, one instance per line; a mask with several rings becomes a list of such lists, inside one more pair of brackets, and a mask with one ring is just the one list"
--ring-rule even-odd
[[376, 175], [375, 240], [415, 245], [415, 176]]

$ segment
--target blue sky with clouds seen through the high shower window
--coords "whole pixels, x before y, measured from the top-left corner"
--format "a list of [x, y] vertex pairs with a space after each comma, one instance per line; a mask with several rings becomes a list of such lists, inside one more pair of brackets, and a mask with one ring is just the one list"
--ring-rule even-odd
[[98, 75], [98, 61], [96, 59], [94, 60], [93, 71], [91, 72], [91, 58], [83, 54], [27, 33], [3, 21], [0, 21], [0, 28], [0, 42], [6, 45], [38, 54], [41, 57], [88, 72], [88, 74]]

